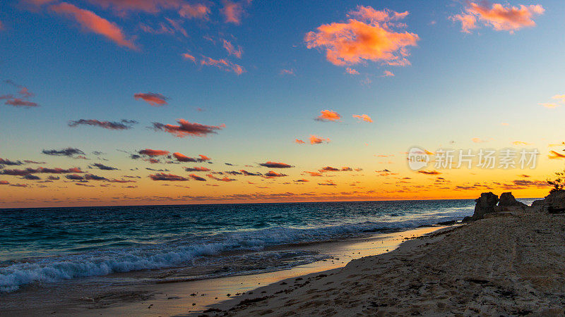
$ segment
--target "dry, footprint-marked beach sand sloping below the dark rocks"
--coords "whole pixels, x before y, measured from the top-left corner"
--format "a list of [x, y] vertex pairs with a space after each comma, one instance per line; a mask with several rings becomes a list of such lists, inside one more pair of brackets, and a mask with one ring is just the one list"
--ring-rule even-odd
[[206, 316], [563, 316], [565, 216], [505, 213], [213, 305]]

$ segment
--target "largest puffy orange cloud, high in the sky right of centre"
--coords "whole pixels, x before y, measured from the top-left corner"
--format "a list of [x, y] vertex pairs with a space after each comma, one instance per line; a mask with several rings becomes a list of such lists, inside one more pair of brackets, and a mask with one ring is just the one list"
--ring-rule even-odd
[[338, 66], [354, 65], [363, 61], [379, 61], [388, 65], [410, 65], [408, 46], [415, 46], [420, 39], [415, 33], [395, 32], [393, 23], [408, 15], [384, 9], [376, 11], [370, 6], [358, 6], [351, 11], [347, 23], [320, 25], [316, 32], [307, 33], [307, 48], [326, 49], [328, 61]]

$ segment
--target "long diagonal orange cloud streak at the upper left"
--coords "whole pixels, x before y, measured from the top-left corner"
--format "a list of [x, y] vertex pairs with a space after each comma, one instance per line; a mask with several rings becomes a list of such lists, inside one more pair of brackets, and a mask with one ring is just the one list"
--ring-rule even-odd
[[100, 16], [96, 15], [92, 11], [78, 8], [72, 4], [67, 4], [66, 2], [53, 4], [49, 8], [56, 13], [71, 16], [85, 30], [103, 35], [114, 41], [119, 46], [125, 46], [129, 49], [138, 49], [136, 44], [133, 44], [130, 39], [126, 39], [124, 33], [121, 32], [121, 29], [116, 24], [109, 22], [105, 18], [100, 18]]

